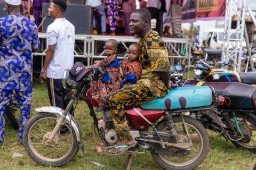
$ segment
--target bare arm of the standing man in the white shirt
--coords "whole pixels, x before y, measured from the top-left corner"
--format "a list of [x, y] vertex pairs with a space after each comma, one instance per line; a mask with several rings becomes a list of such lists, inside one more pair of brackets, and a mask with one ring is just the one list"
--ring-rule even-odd
[[46, 50], [46, 56], [45, 56], [45, 61], [44, 61], [44, 66], [43, 66], [43, 70], [40, 74], [40, 79], [46, 79], [46, 70], [47, 70], [47, 67], [49, 66], [49, 64], [51, 63], [52, 61], [52, 58], [54, 56], [54, 49], [55, 49], [55, 45], [56, 44], [53, 44], [53, 45], [49, 45], [47, 50]]

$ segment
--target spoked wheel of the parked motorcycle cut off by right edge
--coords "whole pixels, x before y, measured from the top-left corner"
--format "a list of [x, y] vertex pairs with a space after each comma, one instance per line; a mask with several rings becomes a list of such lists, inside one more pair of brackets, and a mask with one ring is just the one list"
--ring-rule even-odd
[[[239, 126], [242, 126], [242, 128], [245, 126], [244, 129], [250, 129], [251, 140], [246, 143], [241, 142], [243, 139], [241, 141], [230, 141], [238, 148], [245, 148], [256, 152], [256, 116], [246, 112], [237, 112], [235, 115]], [[234, 115], [230, 114], [229, 117], [233, 120]]]

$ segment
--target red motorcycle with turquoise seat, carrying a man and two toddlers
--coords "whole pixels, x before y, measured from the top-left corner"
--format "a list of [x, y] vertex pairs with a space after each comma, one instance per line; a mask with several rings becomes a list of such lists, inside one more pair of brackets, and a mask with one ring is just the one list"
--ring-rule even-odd
[[[40, 112], [28, 121], [23, 133], [23, 145], [28, 155], [38, 164], [61, 166], [75, 157], [78, 149], [84, 155], [81, 129], [70, 109], [78, 100], [84, 100], [101, 139], [101, 147], [110, 149], [118, 139], [111, 113], [105, 109], [97, 117], [90, 97], [90, 82], [104, 74], [100, 67], [87, 70], [84, 77], [75, 81], [70, 70], [63, 74], [63, 86], [75, 89], [64, 111], [57, 107], [40, 107]], [[165, 97], [137, 107], [127, 108], [125, 114], [136, 146], [126, 152], [138, 154], [139, 148], [151, 152], [156, 163], [164, 169], [193, 169], [201, 164], [209, 150], [209, 137], [204, 126], [195, 118], [183, 115], [188, 111], [211, 110], [219, 102], [210, 87], [177, 87]], [[149, 128], [153, 130], [149, 130]], [[62, 134], [63, 128], [68, 132]], [[93, 128], [95, 130], [95, 128]], [[95, 132], [95, 131], [94, 131]], [[95, 133], [94, 133], [95, 135]], [[94, 136], [95, 137], [95, 136]], [[140, 154], [140, 153], [139, 153]]]

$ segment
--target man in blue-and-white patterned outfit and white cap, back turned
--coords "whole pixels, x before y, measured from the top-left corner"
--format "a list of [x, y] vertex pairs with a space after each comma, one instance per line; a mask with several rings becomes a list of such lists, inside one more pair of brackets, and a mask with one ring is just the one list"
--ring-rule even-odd
[[4, 142], [5, 108], [13, 91], [20, 107], [19, 140], [29, 119], [32, 99], [32, 52], [40, 43], [36, 24], [20, 13], [21, 0], [5, 0], [9, 15], [0, 19], [0, 145]]

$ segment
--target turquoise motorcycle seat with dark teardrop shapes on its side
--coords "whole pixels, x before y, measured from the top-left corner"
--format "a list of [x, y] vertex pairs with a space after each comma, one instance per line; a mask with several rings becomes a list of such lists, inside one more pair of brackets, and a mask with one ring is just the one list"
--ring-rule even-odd
[[145, 110], [171, 110], [210, 106], [212, 90], [205, 87], [177, 87], [171, 89], [165, 97], [158, 97], [140, 107]]

